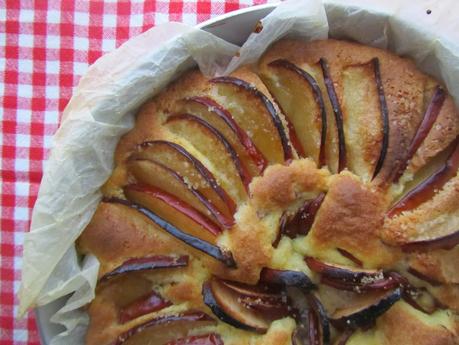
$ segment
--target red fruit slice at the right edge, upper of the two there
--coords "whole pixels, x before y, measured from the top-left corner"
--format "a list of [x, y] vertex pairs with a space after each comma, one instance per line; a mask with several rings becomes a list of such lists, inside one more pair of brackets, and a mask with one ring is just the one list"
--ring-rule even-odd
[[457, 174], [458, 168], [459, 137], [456, 138], [454, 149], [449, 155], [446, 163], [392, 206], [387, 213], [388, 217], [394, 217], [403, 211], [412, 210], [431, 199], [436, 191], [441, 190], [443, 186]]

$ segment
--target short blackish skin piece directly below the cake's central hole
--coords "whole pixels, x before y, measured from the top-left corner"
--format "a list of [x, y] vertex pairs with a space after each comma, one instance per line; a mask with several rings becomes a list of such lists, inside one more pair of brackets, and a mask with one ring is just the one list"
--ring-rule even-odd
[[260, 282], [282, 287], [296, 287], [303, 291], [309, 291], [315, 288], [314, 283], [303, 272], [276, 270], [273, 268], [263, 268], [261, 270]]

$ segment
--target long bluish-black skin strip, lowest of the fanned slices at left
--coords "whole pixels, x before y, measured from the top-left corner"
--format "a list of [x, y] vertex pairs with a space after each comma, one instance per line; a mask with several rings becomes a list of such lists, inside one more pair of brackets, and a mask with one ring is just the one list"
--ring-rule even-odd
[[160, 228], [162, 228], [164, 231], [174, 236], [175, 238], [179, 239], [180, 241], [219, 260], [220, 262], [222, 262], [224, 265], [226, 265], [229, 268], [236, 268], [236, 262], [234, 261], [233, 255], [231, 254], [231, 252], [223, 251], [221, 248], [214, 246], [213, 244], [209, 242], [206, 242], [197, 237], [191, 236], [183, 232], [182, 230], [177, 229], [175, 226], [165, 221], [164, 219], [162, 219], [161, 217], [159, 217], [152, 211], [148, 210], [147, 208], [142, 207], [133, 202], [130, 202], [128, 200], [119, 199], [119, 198], [108, 198], [108, 199], [105, 199], [104, 201], [118, 203], [118, 204], [130, 207], [140, 212], [141, 214], [146, 216], [148, 219], [150, 219], [153, 223], [155, 223]]

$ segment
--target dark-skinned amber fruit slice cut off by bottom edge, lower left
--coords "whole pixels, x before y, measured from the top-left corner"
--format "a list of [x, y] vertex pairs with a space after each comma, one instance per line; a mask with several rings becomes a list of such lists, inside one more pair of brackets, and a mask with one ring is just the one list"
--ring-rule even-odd
[[129, 345], [164, 344], [177, 336], [186, 335], [196, 327], [205, 327], [214, 323], [213, 318], [200, 311], [159, 316], [133, 326], [120, 334], [111, 345], [122, 345], [127, 342]]

